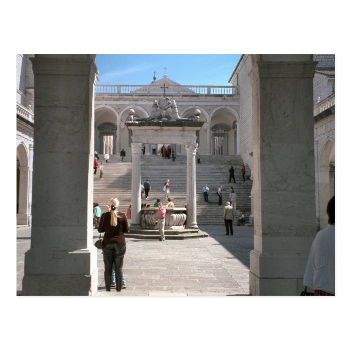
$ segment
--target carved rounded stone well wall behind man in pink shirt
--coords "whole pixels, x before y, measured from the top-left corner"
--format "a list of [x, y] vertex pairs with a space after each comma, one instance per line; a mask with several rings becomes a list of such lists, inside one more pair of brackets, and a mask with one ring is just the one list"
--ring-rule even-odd
[[[185, 207], [165, 207], [166, 221], [164, 229], [182, 230], [184, 229], [187, 215], [183, 212]], [[142, 229], [157, 229], [157, 207], [145, 207], [141, 210], [141, 228]]]

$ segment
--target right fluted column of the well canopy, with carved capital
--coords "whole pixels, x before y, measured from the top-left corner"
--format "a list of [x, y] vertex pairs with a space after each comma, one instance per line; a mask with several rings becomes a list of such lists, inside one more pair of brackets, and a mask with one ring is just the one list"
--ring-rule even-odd
[[196, 142], [187, 142], [187, 228], [199, 229], [196, 222]]

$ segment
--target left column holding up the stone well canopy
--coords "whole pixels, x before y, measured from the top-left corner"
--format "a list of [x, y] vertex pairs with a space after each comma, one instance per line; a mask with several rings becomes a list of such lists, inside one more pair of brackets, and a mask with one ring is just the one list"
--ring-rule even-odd
[[141, 208], [141, 194], [140, 194], [140, 154], [142, 149], [141, 142], [132, 142], [132, 191], [131, 191], [131, 227], [140, 226], [140, 208]]

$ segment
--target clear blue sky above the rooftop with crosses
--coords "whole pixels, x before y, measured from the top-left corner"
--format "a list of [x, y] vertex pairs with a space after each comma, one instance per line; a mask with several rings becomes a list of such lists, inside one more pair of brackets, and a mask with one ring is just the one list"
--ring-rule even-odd
[[97, 55], [97, 84], [147, 85], [167, 77], [182, 85], [230, 85], [239, 55]]

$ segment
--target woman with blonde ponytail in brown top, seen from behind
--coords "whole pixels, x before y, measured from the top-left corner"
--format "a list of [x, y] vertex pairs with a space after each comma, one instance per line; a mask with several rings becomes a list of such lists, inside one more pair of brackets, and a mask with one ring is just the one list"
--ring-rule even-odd
[[122, 288], [122, 269], [125, 254], [124, 233], [128, 233], [128, 221], [124, 213], [118, 212], [119, 201], [117, 198], [110, 199], [110, 212], [106, 212], [99, 223], [98, 232], [105, 233], [102, 241], [102, 251], [105, 265], [106, 291], [111, 291], [111, 275], [113, 264], [116, 272], [116, 290]]

